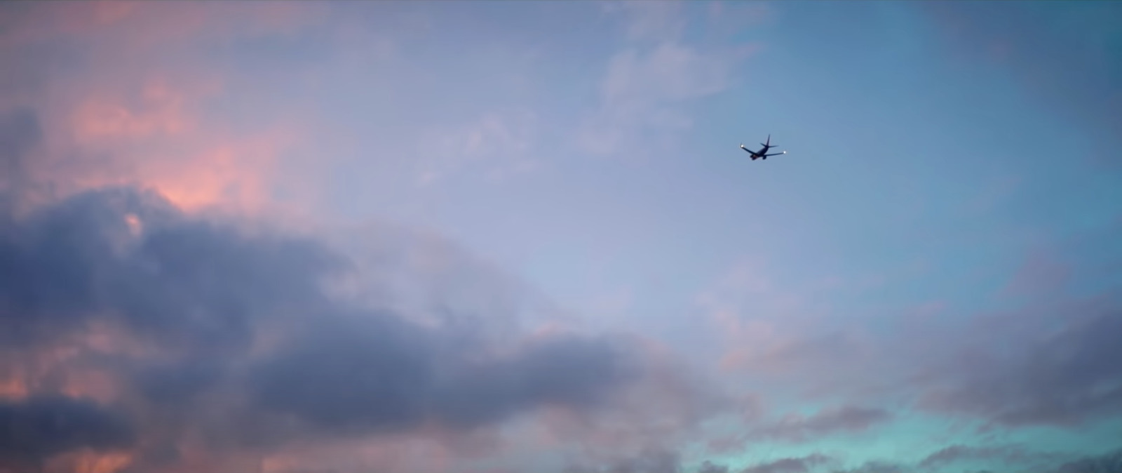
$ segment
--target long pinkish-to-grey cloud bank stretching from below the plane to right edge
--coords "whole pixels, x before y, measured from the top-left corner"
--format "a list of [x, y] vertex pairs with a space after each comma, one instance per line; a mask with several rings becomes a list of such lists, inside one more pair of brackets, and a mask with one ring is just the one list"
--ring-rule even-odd
[[[1103, 278], [1116, 257], [1100, 237], [1112, 228], [1033, 249], [995, 291], [1001, 311], [944, 307], [907, 324], [890, 312], [891, 321], [847, 317], [839, 326], [747, 270], [701, 302], [727, 337], [726, 371], [782, 381], [787, 392], [866, 407], [904, 400], [988, 428], [1076, 428], [1122, 409], [1122, 371], [1110, 362], [1122, 353], [1105, 335], [1120, 329], [1122, 306]], [[1087, 284], [1089, 295], [1076, 297]]]

